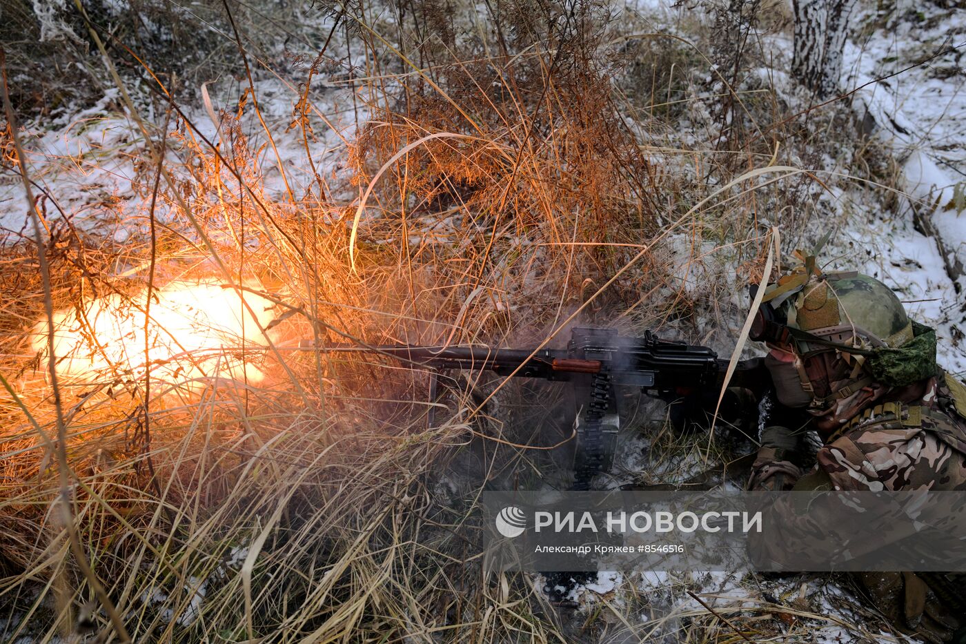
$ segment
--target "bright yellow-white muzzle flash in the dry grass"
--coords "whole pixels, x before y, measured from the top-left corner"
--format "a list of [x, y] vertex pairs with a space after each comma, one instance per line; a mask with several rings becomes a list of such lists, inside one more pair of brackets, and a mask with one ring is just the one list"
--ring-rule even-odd
[[[173, 281], [156, 287], [147, 325], [152, 381], [196, 390], [214, 378], [251, 384], [265, 380], [258, 366], [241, 360], [241, 348], [268, 345], [259, 327], [265, 329], [278, 311], [270, 300], [242, 295], [243, 300], [236, 289], [216, 281]], [[66, 384], [85, 385], [143, 378], [146, 298], [145, 288], [130, 297], [109, 295], [55, 311], [58, 377]], [[46, 354], [45, 318], [34, 325], [31, 344]], [[263, 355], [259, 352], [251, 360]]]

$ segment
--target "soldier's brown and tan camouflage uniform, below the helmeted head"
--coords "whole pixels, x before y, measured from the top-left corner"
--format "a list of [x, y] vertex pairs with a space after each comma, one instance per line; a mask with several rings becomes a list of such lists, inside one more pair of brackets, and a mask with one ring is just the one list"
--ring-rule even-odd
[[[907, 387], [867, 407], [816, 454], [805, 474], [797, 454], [762, 448], [753, 464], [750, 487], [757, 490], [966, 490], [966, 387], [953, 401], [951, 387], [940, 373], [923, 387]], [[919, 391], [924, 390], [922, 394]], [[912, 398], [912, 399], [910, 399]], [[844, 542], [847, 525], [827, 525], [814, 512], [782, 512], [792, 534], [819, 535]], [[882, 530], [891, 530], [887, 517]], [[908, 535], [889, 533], [891, 541]], [[778, 560], [788, 540], [753, 543], [753, 557]], [[801, 543], [801, 542], [800, 542]], [[915, 548], [915, 540], [904, 547]], [[862, 554], [853, 546], [853, 554]], [[824, 548], [822, 548], [824, 552]], [[966, 616], [966, 575], [937, 572], [861, 572], [854, 575], [871, 603], [895, 628], [933, 644], [963, 642]], [[938, 597], [937, 597], [938, 596]], [[918, 600], [910, 598], [919, 598]], [[912, 606], [910, 608], [910, 606]]]

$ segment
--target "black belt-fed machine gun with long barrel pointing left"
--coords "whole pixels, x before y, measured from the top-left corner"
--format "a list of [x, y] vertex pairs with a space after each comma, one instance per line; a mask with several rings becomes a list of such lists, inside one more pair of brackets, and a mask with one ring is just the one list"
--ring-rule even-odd
[[[702, 402], [717, 400], [725, 381], [727, 361], [704, 346], [667, 340], [644, 332], [643, 337], [618, 335], [614, 329], [576, 328], [566, 349], [493, 349], [479, 346], [417, 346], [390, 344], [316, 346], [302, 340], [303, 351], [365, 352], [392, 357], [403, 366], [432, 370], [430, 398], [436, 400], [440, 372], [488, 369], [502, 376], [568, 382], [582, 416], [578, 418], [574, 489], [588, 489], [590, 480], [610, 466], [618, 428], [618, 386], [639, 387], [641, 393], [681, 405], [687, 419]], [[761, 395], [771, 382], [761, 359], [741, 361], [730, 386]], [[431, 410], [432, 412], [432, 410]], [[430, 420], [432, 424], [432, 417]]]

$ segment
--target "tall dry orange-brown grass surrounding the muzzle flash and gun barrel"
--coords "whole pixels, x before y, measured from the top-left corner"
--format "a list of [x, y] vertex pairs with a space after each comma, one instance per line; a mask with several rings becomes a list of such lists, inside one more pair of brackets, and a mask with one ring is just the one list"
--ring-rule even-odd
[[[638, 122], [650, 130], [632, 128], [614, 91], [621, 56], [651, 54], [611, 47], [604, 6], [523, 3], [491, 15], [501, 29], [485, 43], [458, 37], [447, 8], [393, 9], [414, 26], [398, 26], [392, 44], [369, 8], [332, 10], [376, 54], [355, 73], [370, 118], [341, 151], [350, 198], [333, 196], [347, 186], [314, 165], [302, 191], [264, 190], [259, 160], [274, 160], [241, 127], [255, 103], [218, 115], [213, 145], [163, 99], [177, 128], [138, 132], [141, 193], [124, 244], [48, 220], [46, 282], [36, 245], [3, 249], [5, 638], [119, 641], [112, 617], [135, 641], [560, 641], [608, 623], [591, 616], [575, 633], [528, 575], [484, 577], [477, 563], [475, 494], [550, 476], [554, 455], [526, 448], [569, 428], [521, 404], [539, 390], [473, 374], [427, 428], [425, 372], [277, 346], [298, 337], [534, 343], [578, 321], [708, 341], [698, 313], [706, 321], [727, 284], [689, 281], [705, 280], [722, 250], [742, 277], [759, 277], [759, 209], [797, 198], [770, 182], [800, 176], [781, 163], [750, 171], [768, 164], [769, 137], [732, 141], [731, 156], [677, 141], [658, 152], [667, 130], [657, 119], [677, 108], [655, 108], [686, 83], [652, 74]], [[657, 48], [701, 60], [693, 48]], [[747, 104], [758, 110], [749, 124], [778, 109]], [[307, 99], [295, 109], [306, 146], [312, 124], [322, 127], [312, 112]], [[16, 161], [9, 132], [4, 142]], [[267, 379], [244, 382], [187, 355], [185, 369], [202, 375], [167, 389], [156, 366], [110, 365], [58, 388], [59, 440], [55, 387], [45, 357], [29, 350], [44, 292], [79, 312], [114, 294], [144, 319], [138, 293], [184, 279], [254, 284], [290, 313], [268, 346], [239, 338], [241, 358]], [[722, 321], [731, 313], [710, 309]], [[102, 350], [104, 338], [89, 340]], [[498, 412], [481, 407], [497, 389]], [[655, 439], [668, 470], [707, 445], [673, 438]], [[98, 583], [109, 601], [96, 599]], [[684, 632], [662, 632], [690, 639], [701, 625], [702, 641], [736, 641], [706, 612], [689, 616], [699, 614]]]

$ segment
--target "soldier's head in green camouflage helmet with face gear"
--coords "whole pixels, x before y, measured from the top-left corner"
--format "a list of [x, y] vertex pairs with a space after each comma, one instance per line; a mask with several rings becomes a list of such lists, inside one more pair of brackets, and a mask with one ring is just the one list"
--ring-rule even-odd
[[908, 317], [891, 288], [795, 255], [798, 265], [765, 290], [751, 337], [790, 354], [811, 409], [873, 383], [904, 386], [935, 374], [935, 333]]

